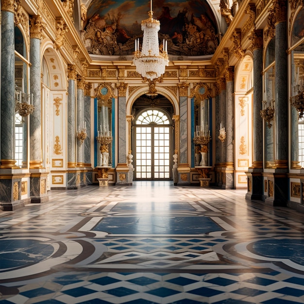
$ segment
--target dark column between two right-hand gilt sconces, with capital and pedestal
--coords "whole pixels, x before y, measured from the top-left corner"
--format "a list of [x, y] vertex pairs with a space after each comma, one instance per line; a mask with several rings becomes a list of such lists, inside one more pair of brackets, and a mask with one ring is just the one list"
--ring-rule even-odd
[[288, 200], [288, 106], [287, 98], [287, 0], [274, 0], [271, 10], [275, 23], [275, 159], [274, 172], [268, 177], [273, 191], [266, 204], [286, 206]]

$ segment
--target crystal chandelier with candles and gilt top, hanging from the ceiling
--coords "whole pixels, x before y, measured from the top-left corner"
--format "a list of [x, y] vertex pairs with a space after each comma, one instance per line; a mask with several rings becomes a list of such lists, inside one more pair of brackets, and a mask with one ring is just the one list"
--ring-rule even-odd
[[160, 22], [152, 18], [152, 0], [151, 10], [148, 14], [149, 18], [141, 21], [141, 30], [144, 32], [141, 51], [139, 50], [139, 38], [135, 39], [133, 63], [136, 71], [142, 77], [153, 80], [165, 73], [165, 67], [169, 65], [169, 58], [167, 40], [163, 40], [162, 50], [159, 49]]

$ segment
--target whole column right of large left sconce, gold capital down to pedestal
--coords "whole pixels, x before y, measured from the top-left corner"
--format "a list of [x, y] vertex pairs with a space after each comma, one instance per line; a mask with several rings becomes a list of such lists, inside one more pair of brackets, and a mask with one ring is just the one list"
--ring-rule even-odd
[[40, 42], [44, 23], [40, 15], [31, 17], [30, 27], [30, 93], [34, 112], [30, 114], [30, 196], [32, 203], [43, 203], [47, 196], [48, 173], [42, 162], [41, 64]]

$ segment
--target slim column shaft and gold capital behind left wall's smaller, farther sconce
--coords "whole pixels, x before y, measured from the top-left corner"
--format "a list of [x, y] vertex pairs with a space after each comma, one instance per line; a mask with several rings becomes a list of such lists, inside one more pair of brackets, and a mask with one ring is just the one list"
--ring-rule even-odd
[[[77, 132], [81, 132], [84, 126], [84, 81], [77, 75]], [[77, 167], [84, 167], [84, 142], [77, 140]]]

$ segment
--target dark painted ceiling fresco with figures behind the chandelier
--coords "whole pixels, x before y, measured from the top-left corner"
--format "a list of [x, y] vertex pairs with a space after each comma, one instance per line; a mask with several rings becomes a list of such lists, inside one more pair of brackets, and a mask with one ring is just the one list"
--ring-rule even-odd
[[[168, 40], [168, 53], [179, 56], [213, 54], [218, 46], [217, 27], [205, 0], [154, 0], [153, 18], [160, 21], [159, 41]], [[93, 0], [82, 34], [90, 54], [130, 55], [135, 39], [143, 36], [150, 1]]]

